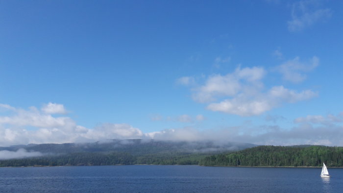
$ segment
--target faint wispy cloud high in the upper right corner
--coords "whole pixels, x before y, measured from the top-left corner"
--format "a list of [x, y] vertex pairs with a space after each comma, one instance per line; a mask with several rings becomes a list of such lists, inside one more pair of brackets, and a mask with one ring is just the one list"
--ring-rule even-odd
[[322, 8], [320, 0], [300, 0], [292, 6], [292, 20], [288, 21], [289, 31], [301, 31], [332, 16], [329, 8]]

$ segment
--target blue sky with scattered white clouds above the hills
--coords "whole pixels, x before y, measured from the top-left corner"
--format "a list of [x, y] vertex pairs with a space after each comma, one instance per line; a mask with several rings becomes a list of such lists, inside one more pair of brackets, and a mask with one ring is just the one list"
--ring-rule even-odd
[[0, 145], [343, 145], [342, 6], [0, 0]]

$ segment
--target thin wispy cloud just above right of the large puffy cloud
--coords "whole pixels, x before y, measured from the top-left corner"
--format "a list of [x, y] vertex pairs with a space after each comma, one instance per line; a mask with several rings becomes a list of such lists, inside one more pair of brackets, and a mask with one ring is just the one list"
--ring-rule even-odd
[[304, 72], [310, 72], [319, 65], [319, 58], [313, 56], [310, 62], [301, 62], [299, 57], [289, 60], [275, 69], [280, 72], [284, 80], [299, 83], [306, 79]]

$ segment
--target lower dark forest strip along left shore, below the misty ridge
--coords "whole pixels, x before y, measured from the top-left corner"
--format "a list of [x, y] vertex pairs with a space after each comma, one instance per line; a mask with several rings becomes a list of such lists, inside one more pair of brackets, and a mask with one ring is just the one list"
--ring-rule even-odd
[[0, 160], [0, 167], [28, 166], [107, 166], [107, 165], [197, 165], [209, 154], [148, 154], [134, 156], [130, 153], [81, 152], [58, 156], [31, 157], [24, 159]]

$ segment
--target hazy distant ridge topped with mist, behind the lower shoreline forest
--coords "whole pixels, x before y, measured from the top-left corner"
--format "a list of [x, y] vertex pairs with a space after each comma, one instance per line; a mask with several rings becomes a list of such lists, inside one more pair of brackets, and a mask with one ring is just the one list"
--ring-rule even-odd
[[247, 143], [215, 143], [211, 141], [204, 142], [172, 142], [155, 141], [141, 139], [127, 140], [107, 140], [94, 143], [66, 143], [66, 144], [29, 144], [12, 145], [9, 147], [0, 147], [0, 150], [17, 151], [24, 148], [27, 151], [39, 151], [41, 153], [76, 153], [76, 152], [111, 152], [119, 151], [132, 154], [161, 153], [161, 152], [187, 152], [187, 153], [205, 153], [205, 152], [225, 152], [241, 150], [256, 145]]

